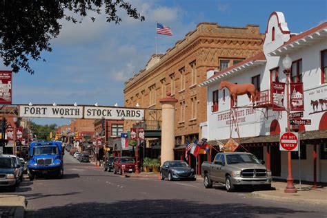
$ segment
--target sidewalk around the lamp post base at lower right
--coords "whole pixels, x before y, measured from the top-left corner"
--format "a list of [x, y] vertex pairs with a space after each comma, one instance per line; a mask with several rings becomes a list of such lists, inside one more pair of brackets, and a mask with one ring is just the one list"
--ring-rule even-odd
[[260, 197], [275, 201], [292, 201], [292, 203], [321, 204], [327, 206], [327, 186], [313, 188], [311, 184], [295, 184], [297, 193], [284, 193], [286, 182], [273, 182], [272, 187], [276, 190], [260, 190], [250, 193], [250, 197]]

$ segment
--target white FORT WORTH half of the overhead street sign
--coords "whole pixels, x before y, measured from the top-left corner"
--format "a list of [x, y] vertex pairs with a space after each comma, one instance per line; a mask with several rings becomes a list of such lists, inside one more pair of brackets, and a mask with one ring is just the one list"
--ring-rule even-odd
[[21, 118], [83, 118], [81, 106], [19, 105]]

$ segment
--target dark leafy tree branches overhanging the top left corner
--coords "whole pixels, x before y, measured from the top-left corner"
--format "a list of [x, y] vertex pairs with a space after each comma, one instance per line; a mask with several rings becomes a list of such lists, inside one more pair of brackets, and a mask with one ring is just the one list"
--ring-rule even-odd
[[[123, 0], [1, 0], [0, 1], [0, 57], [12, 72], [23, 68], [30, 74], [30, 58], [39, 61], [41, 52], [52, 52], [50, 40], [61, 30], [59, 20], [77, 23], [68, 13], [88, 17], [88, 12], [106, 13], [107, 22], [119, 24], [117, 9], [129, 17], [144, 21], [136, 8]], [[95, 21], [94, 17], [90, 17]], [[81, 21], [79, 21], [81, 23]], [[43, 61], [46, 61], [43, 59]]]

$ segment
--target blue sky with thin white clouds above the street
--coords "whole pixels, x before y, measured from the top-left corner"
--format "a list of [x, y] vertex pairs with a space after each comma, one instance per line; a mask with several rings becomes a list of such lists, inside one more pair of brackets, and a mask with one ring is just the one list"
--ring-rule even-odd
[[[327, 1], [130, 1], [146, 21], [130, 19], [119, 12], [120, 25], [106, 23], [96, 15], [92, 23], [62, 21], [63, 29], [52, 39], [53, 51], [43, 53], [46, 62], [32, 62], [35, 74], [21, 70], [13, 76], [13, 104], [123, 105], [124, 81], [143, 69], [155, 53], [155, 22], [171, 28], [173, 36], [158, 35], [159, 53], [164, 53], [200, 22], [219, 25], [260, 25], [264, 33], [273, 11], [283, 12], [290, 32], [299, 33], [327, 21]], [[0, 69], [4, 67], [0, 59]], [[41, 124], [68, 120], [34, 119]]]

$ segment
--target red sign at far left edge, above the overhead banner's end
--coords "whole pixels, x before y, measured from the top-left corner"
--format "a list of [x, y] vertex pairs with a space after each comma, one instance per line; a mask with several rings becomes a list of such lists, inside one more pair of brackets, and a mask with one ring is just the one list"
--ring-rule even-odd
[[12, 102], [12, 72], [0, 70], [0, 104], [11, 105]]

